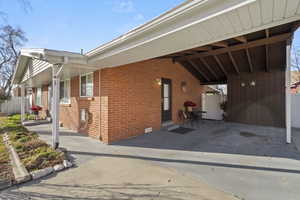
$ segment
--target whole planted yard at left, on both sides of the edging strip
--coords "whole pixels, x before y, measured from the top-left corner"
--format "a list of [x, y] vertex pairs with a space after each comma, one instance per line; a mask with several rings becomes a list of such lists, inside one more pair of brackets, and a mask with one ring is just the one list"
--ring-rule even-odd
[[7, 133], [11, 144], [16, 149], [21, 162], [29, 171], [61, 164], [64, 154], [52, 149], [40, 140], [35, 132], [28, 131], [20, 123], [20, 115], [0, 118], [0, 182], [14, 182], [14, 175], [8, 149], [3, 141]]

